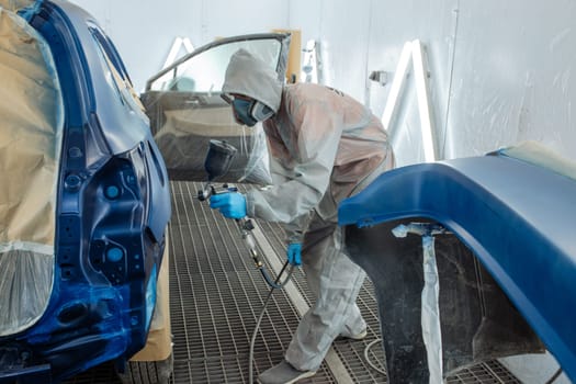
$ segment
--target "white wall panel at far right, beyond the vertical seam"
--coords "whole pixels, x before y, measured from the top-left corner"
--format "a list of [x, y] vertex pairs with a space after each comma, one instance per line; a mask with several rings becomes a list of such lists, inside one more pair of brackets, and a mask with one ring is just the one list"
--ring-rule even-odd
[[576, 159], [576, 3], [462, 1], [450, 156], [534, 139]]

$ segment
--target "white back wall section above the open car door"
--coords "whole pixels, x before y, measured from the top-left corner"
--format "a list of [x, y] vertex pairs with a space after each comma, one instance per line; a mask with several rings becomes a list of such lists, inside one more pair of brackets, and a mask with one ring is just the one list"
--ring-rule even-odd
[[[136, 90], [158, 72], [176, 37], [195, 47], [216, 37], [287, 27], [289, 0], [74, 0], [112, 37]], [[183, 50], [182, 50], [183, 52]]]

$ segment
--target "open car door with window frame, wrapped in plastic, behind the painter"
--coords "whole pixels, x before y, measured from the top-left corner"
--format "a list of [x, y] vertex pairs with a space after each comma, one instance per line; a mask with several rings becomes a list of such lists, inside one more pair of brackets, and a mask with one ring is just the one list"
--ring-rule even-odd
[[271, 183], [261, 125], [238, 125], [221, 91], [229, 58], [239, 48], [269, 63], [284, 81], [290, 41], [290, 33], [222, 38], [195, 49], [147, 81], [142, 101], [172, 180], [205, 181], [204, 159], [210, 139], [215, 138], [238, 149], [221, 181]]

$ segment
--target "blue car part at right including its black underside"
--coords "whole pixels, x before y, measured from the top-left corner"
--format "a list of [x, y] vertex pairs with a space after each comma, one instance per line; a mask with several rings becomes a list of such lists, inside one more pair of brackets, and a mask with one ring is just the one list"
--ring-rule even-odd
[[444, 372], [545, 347], [575, 380], [575, 196], [576, 166], [529, 142], [402, 167], [340, 204], [376, 285], [391, 383], [428, 381], [421, 240], [392, 235], [411, 222], [451, 233], [436, 239]]

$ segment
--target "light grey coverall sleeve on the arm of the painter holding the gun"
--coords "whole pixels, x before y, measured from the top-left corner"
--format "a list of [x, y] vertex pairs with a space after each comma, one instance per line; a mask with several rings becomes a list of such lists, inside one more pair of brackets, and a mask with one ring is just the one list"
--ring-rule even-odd
[[283, 145], [293, 161], [271, 158], [274, 185], [248, 192], [247, 208], [249, 216], [286, 224], [289, 240], [295, 241], [306, 229], [309, 212], [328, 190], [342, 123], [323, 101], [302, 103], [291, 115], [296, 132], [282, 137], [292, 137]]

